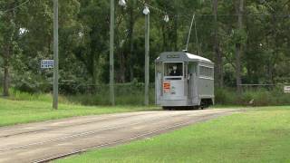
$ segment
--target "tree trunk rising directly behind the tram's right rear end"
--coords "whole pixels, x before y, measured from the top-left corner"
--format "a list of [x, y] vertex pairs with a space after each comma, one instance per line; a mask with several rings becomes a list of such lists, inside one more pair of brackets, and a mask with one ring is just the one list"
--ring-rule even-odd
[[214, 26], [214, 37], [215, 37], [215, 43], [214, 43], [214, 52], [215, 54], [215, 82], [218, 87], [223, 87], [224, 85], [224, 77], [223, 77], [223, 60], [222, 60], [222, 54], [219, 49], [219, 42], [218, 42], [218, 0], [213, 0], [213, 14], [215, 18], [215, 26]]

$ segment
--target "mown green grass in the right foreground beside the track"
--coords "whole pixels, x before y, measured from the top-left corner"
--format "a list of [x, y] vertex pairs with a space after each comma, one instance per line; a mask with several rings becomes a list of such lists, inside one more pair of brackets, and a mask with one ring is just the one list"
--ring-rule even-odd
[[56, 162], [290, 162], [290, 107], [267, 107]]

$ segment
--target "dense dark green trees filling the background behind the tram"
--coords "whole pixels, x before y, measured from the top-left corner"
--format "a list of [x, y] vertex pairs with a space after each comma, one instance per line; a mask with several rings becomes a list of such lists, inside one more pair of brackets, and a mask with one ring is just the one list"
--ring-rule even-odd
[[[74, 92], [79, 90], [72, 88], [80, 84], [107, 83], [110, 1], [59, 3], [61, 88]], [[143, 3], [128, 0], [127, 6], [121, 7], [116, 0], [116, 82], [144, 81]], [[150, 82], [154, 82], [154, 59], [159, 53], [185, 48], [192, 13], [196, 14], [196, 26], [189, 52], [216, 62], [218, 87], [236, 86], [239, 73], [242, 83], [290, 81], [288, 0], [148, 0], [147, 3], [152, 6]], [[163, 20], [163, 12], [169, 14], [168, 23]], [[0, 0], [1, 84], [9, 82], [24, 91], [50, 91], [53, 72], [41, 70], [40, 61], [52, 58], [53, 1]]]

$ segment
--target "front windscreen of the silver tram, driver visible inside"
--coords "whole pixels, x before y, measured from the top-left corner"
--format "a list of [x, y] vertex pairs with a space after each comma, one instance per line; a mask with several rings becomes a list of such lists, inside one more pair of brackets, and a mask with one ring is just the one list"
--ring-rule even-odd
[[165, 62], [164, 76], [183, 76], [182, 62]]

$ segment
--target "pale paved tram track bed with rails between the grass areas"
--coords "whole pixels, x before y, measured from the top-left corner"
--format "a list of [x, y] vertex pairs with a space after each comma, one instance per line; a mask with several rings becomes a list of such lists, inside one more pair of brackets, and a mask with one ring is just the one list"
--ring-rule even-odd
[[[0, 137], [1, 142], [8, 141], [6, 144], [0, 144], [0, 162], [14, 162], [14, 160], [19, 159], [24, 160], [23, 162], [47, 162], [82, 153], [89, 149], [101, 149], [133, 139], [147, 138], [199, 121], [228, 115], [235, 111], [195, 110], [127, 113], [117, 117], [100, 116], [100, 119], [92, 121], [80, 120], [82, 122], [78, 124], [67, 124], [54, 129], [41, 130], [38, 128], [32, 129], [31, 132], [17, 132], [17, 134], [10, 134], [9, 137]], [[109, 124], [102, 127], [105, 123]], [[39, 136], [43, 136], [43, 140], [39, 141]], [[28, 137], [28, 139], [9, 143], [9, 141], [12, 142], [21, 137]], [[7, 156], [14, 156], [14, 158]]]

